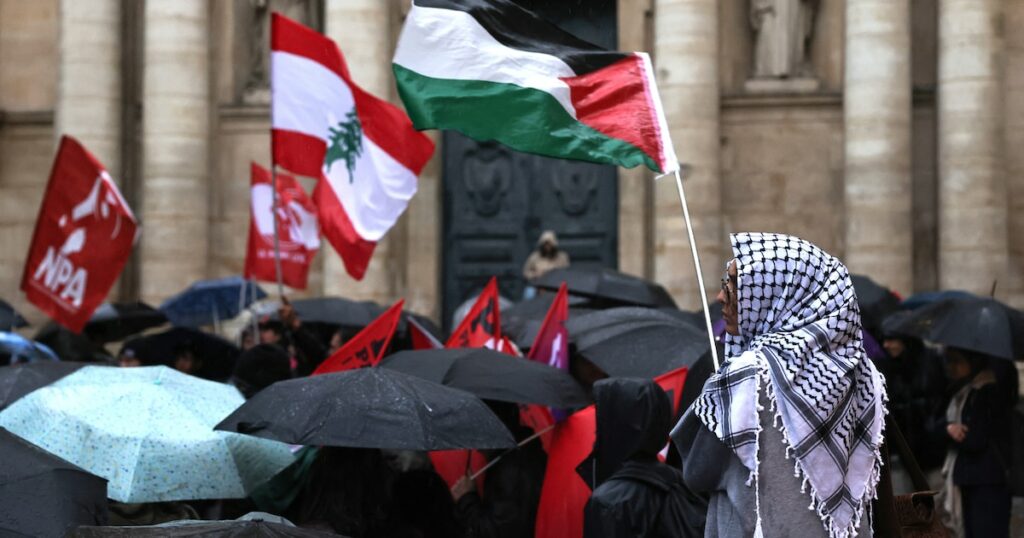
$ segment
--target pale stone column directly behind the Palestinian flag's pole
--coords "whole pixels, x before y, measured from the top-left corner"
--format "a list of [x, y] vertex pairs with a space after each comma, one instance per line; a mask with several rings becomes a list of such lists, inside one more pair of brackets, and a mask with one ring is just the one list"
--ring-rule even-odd
[[[656, 0], [654, 67], [679, 160], [705, 285], [714, 300], [729, 246], [722, 233], [719, 155], [718, 2]], [[654, 188], [654, 280], [682, 307], [700, 301], [673, 177]], [[731, 257], [731, 255], [729, 255]]]

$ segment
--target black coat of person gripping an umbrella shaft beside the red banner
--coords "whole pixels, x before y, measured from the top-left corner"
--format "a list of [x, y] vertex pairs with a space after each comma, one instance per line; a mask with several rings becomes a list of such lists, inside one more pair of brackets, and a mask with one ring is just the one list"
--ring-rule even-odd
[[456, 503], [456, 518], [466, 537], [534, 536], [547, 463], [547, 455], [535, 442], [505, 454], [487, 469], [483, 495], [470, 492]]

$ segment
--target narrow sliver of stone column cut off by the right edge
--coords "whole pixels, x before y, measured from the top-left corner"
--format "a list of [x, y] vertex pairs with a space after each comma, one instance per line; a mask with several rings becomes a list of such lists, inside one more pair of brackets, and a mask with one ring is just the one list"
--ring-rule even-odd
[[1024, 308], [1024, 0], [1007, 0], [1002, 27], [1007, 63], [1004, 73], [1006, 96], [1006, 158], [1010, 221], [1010, 302]]

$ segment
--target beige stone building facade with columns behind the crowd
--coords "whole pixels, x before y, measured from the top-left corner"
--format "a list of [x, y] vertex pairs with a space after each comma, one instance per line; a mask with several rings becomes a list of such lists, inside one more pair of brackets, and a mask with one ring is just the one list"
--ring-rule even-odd
[[[776, 231], [903, 294], [995, 283], [1024, 306], [1024, 0], [611, 1], [620, 48], [653, 56], [711, 291], [729, 232]], [[267, 13], [321, 29], [397, 102], [408, 5], [0, 0], [0, 297], [38, 316], [17, 288], [60, 133], [142, 223], [113, 298], [239, 274], [249, 162], [268, 164]], [[307, 293], [440, 315], [442, 153], [367, 278], [326, 248]], [[695, 305], [675, 185], [617, 175], [618, 267]]]

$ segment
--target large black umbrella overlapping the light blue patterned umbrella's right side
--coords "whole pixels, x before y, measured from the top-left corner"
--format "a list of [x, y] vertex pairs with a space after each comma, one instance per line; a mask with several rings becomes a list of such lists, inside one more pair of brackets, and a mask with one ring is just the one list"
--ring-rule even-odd
[[446, 450], [510, 448], [512, 434], [475, 396], [387, 368], [279, 381], [217, 429], [299, 445]]

